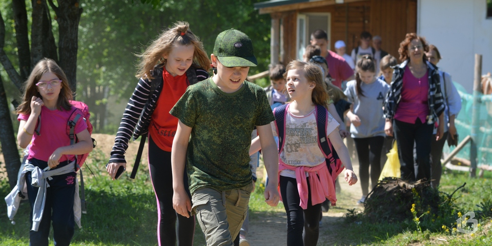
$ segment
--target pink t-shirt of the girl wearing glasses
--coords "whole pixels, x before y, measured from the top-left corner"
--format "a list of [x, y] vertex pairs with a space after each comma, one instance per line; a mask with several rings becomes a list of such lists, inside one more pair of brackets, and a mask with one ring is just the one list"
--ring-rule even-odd
[[[51, 154], [59, 148], [70, 145], [70, 137], [67, 134], [67, 122], [75, 110], [72, 107], [69, 111], [49, 110], [46, 107], [41, 107], [41, 129], [40, 135], [34, 133], [32, 136], [32, 146], [29, 149], [28, 159], [36, 158], [38, 160], [48, 161]], [[19, 114], [17, 119], [27, 120], [28, 114]], [[37, 119], [36, 119], [37, 120]], [[75, 125], [75, 134], [87, 129], [87, 123], [83, 117], [80, 117]], [[63, 155], [60, 162], [73, 160], [74, 155]]]

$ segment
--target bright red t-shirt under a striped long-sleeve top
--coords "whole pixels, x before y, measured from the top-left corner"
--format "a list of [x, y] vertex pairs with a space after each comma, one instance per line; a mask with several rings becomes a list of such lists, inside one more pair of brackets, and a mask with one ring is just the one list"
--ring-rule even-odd
[[172, 116], [169, 111], [185, 94], [188, 79], [186, 73], [173, 77], [166, 71], [166, 68], [163, 69], [162, 76], [162, 91], [150, 120], [149, 134], [161, 150], [171, 152], [174, 135], [178, 128], [178, 118]]

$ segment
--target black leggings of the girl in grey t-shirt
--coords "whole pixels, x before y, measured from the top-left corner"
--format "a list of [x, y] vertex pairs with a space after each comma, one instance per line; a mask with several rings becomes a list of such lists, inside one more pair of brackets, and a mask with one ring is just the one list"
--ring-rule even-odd
[[369, 193], [369, 166], [371, 166], [371, 185], [374, 188], [378, 184], [381, 174], [381, 150], [384, 137], [354, 138], [355, 148], [359, 155], [359, 178], [362, 187], [362, 195]]

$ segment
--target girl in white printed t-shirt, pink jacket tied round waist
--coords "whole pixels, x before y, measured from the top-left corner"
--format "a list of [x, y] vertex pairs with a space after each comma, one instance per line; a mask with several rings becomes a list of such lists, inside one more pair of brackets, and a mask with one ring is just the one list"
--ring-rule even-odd
[[[285, 78], [292, 103], [288, 104], [285, 114], [284, 147], [279, 153], [279, 187], [287, 215], [287, 245], [316, 245], [321, 203], [326, 198], [336, 202], [334, 182], [318, 145], [316, 124], [316, 105], [326, 108], [330, 96], [323, 86], [323, 73], [315, 64], [291, 61]], [[326, 135], [346, 168], [345, 181], [354, 185], [357, 176], [338, 133], [339, 124], [327, 110], [326, 114]], [[275, 134], [275, 124], [272, 125]], [[256, 138], [250, 153], [259, 148]]]

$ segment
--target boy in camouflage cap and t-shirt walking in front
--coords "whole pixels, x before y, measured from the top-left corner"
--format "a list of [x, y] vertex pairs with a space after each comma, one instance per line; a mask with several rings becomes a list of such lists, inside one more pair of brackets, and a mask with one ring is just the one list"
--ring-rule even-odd
[[[265, 202], [277, 206], [279, 201], [277, 145], [270, 127], [275, 117], [263, 89], [245, 81], [249, 67], [257, 65], [246, 34], [221, 32], [211, 60], [214, 76], [188, 87], [170, 111], [179, 119], [171, 157], [173, 204], [183, 216], [196, 214], [207, 245], [234, 245], [254, 190], [249, 149], [255, 126], [270, 176]], [[192, 202], [183, 187], [185, 166]]]

